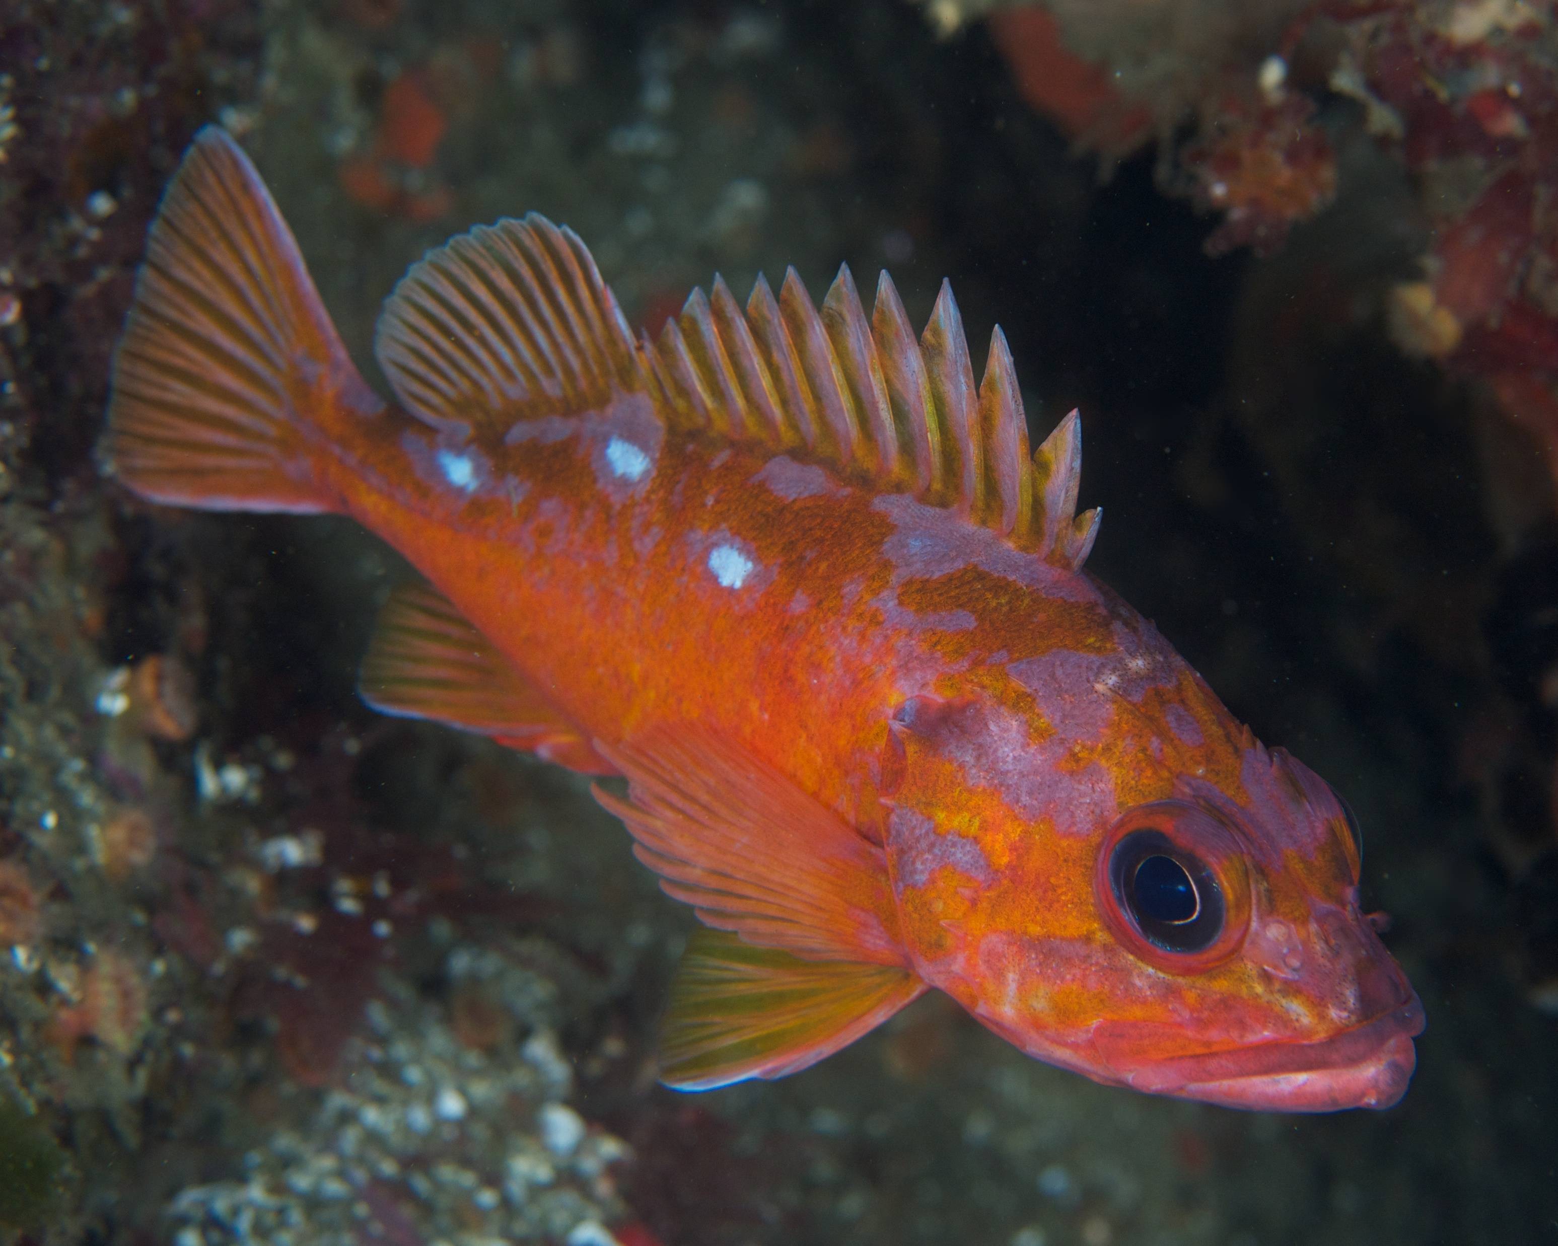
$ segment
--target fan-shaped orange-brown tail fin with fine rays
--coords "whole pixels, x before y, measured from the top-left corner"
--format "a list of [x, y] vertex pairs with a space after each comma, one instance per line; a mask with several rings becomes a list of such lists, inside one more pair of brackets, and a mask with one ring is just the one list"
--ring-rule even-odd
[[146, 243], [114, 358], [109, 469], [142, 497], [217, 511], [329, 511], [304, 438], [361, 402], [291, 231], [221, 129], [195, 139]]

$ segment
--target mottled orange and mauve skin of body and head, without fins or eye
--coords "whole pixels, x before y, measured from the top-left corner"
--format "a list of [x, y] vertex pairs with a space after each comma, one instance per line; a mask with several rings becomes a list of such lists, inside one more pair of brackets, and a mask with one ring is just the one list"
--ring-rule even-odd
[[[318, 483], [587, 738], [712, 726], [788, 774], [885, 846], [904, 961], [1025, 1051], [1237, 1106], [1405, 1089], [1421, 1011], [1357, 910], [1341, 807], [1089, 575], [821, 467], [665, 433], [645, 396], [513, 433], [472, 413], [469, 436], [366, 392], [313, 399]], [[645, 456], [639, 478], [612, 438]], [[715, 573], [721, 548], [740, 583]], [[1242, 846], [1248, 933], [1195, 972], [1119, 938], [1102, 899], [1106, 833], [1159, 801]], [[1282, 1054], [1373, 1019], [1377, 1040], [1346, 1039], [1351, 1072]]]

